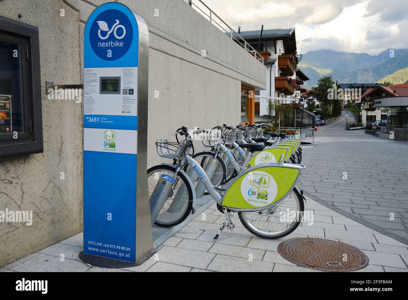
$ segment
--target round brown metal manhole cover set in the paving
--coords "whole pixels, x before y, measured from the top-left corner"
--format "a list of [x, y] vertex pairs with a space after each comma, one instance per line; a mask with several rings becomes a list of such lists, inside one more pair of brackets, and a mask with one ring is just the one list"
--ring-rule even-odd
[[359, 249], [324, 238], [291, 238], [281, 242], [278, 251], [290, 262], [321, 271], [354, 271], [368, 264]]

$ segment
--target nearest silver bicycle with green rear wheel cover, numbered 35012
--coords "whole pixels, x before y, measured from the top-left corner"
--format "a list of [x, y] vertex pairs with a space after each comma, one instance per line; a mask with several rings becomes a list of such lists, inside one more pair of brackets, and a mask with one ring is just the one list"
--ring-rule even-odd
[[[175, 205], [178, 205], [177, 209], [180, 209], [179, 212], [185, 208], [184, 212], [180, 213], [180, 215], [183, 217], [188, 215], [195, 201], [194, 180], [186, 178], [186, 173], [183, 170], [184, 165], [188, 164], [195, 170], [195, 176], [200, 178], [208, 193], [217, 203], [217, 207], [221, 208], [226, 217], [220, 232], [217, 233], [214, 239], [219, 237], [225, 227], [228, 229], [235, 227], [233, 223], [235, 213], [238, 214], [239, 220], [248, 231], [261, 238], [282, 238], [293, 232], [299, 226], [304, 210], [304, 198], [295, 184], [299, 180], [301, 170], [305, 167], [299, 164], [284, 163], [283, 156], [281, 156], [277, 163], [259, 164], [245, 169], [239, 176], [231, 180], [225, 189], [215, 187], [211, 184], [211, 178], [207, 175], [206, 171], [189, 154], [193, 148], [193, 134], [199, 130], [188, 131], [186, 127], [182, 127], [176, 132], [185, 136], [185, 138], [180, 141], [177, 149], [172, 154], [175, 160], [174, 165], [162, 164], [153, 167], [156, 168], [156, 171], [162, 169], [167, 172], [158, 177], [163, 178], [163, 175], [164, 177], [170, 176], [171, 187], [164, 191], [164, 196], [162, 195], [154, 199], [151, 197], [150, 201], [157, 202], [157, 199], [164, 199], [162, 201], [165, 201], [171, 195], [172, 201], [175, 201]], [[157, 153], [162, 157], [169, 158], [169, 152], [166, 151], [166, 144], [169, 144], [169, 142], [166, 139], [159, 140], [159, 143], [156, 144]], [[249, 152], [254, 153], [263, 149], [264, 144], [240, 144], [239, 147], [246, 148]], [[158, 174], [153, 173], [153, 175], [150, 174], [148, 177], [156, 175]], [[260, 178], [262, 178], [262, 188], [251, 185], [252, 180], [259, 180]], [[164, 180], [162, 179], [162, 182]], [[175, 191], [176, 182], [181, 182], [180, 185], [183, 185], [183, 189], [177, 188], [177, 191]], [[166, 184], [164, 182], [164, 185]], [[167, 185], [170, 186], [170, 184]], [[160, 186], [157, 183], [155, 191]], [[175, 200], [174, 198], [179, 193], [178, 199]], [[149, 196], [151, 195], [152, 193], [149, 191]], [[156, 207], [161, 205], [161, 203], [156, 204]], [[280, 215], [279, 218], [277, 215]]]

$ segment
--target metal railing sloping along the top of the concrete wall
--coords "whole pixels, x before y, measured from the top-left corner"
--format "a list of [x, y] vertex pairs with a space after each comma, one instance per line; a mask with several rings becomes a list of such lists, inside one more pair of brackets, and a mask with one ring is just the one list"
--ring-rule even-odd
[[[242, 36], [234, 31], [226, 22], [224, 22], [214, 11], [212, 11], [204, 2], [201, 0], [194, 0], [195, 2], [200, 2], [201, 8], [199, 5], [195, 4], [193, 0], [188, 0], [188, 4], [197, 10], [201, 15], [208, 18], [211, 24], [217, 26], [221, 31], [224, 31], [229, 35], [231, 40], [235, 40], [245, 51], [248, 51], [253, 57], [255, 57], [260, 62], [264, 63], [264, 57], [258, 53]], [[204, 11], [206, 10], [206, 11]], [[221, 24], [220, 24], [221, 23]], [[225, 29], [226, 27], [227, 29]], [[234, 35], [235, 34], [235, 35]]]

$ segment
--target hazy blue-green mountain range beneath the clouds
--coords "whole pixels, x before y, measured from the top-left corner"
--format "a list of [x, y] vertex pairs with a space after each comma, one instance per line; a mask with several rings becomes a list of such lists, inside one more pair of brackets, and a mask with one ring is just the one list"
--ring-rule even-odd
[[[298, 64], [310, 78], [303, 87], [310, 89], [322, 76], [332, 76], [338, 83], [383, 83], [388, 76], [392, 84], [408, 80], [408, 49], [387, 49], [378, 55], [368, 53], [317, 50], [305, 53]], [[399, 71], [401, 70], [401, 71]], [[395, 73], [395, 76], [391, 74]], [[392, 82], [395, 81], [395, 82]]]

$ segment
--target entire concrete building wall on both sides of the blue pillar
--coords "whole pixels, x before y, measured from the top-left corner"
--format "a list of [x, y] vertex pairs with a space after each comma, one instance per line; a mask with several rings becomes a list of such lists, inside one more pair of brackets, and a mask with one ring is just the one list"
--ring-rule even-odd
[[[45, 81], [83, 83], [85, 22], [104, 2], [0, 1], [1, 16], [39, 28], [44, 130], [44, 153], [0, 159], [0, 210], [33, 211], [31, 226], [0, 223], [0, 265], [82, 231], [82, 103], [48, 100]], [[157, 138], [170, 139], [182, 125], [237, 124], [241, 84], [266, 88], [264, 65], [183, 0], [122, 3], [142, 15], [150, 33], [149, 167], [163, 161]]]

